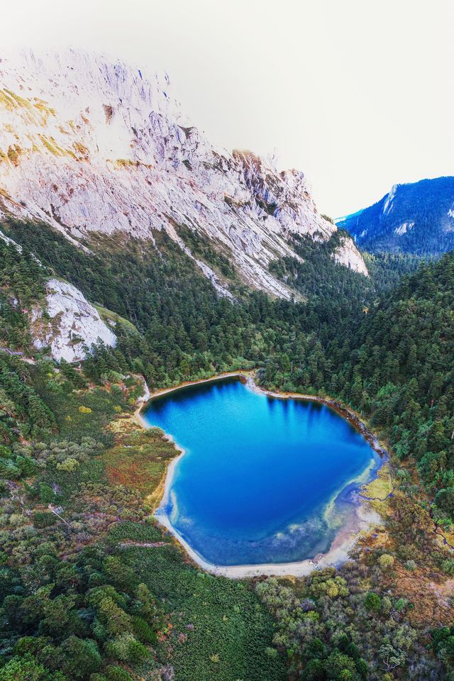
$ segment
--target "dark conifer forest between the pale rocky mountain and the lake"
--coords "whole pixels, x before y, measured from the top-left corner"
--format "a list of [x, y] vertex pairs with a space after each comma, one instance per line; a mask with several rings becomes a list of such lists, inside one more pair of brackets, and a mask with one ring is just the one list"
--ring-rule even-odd
[[[287, 338], [295, 340], [320, 325], [324, 336], [333, 335], [335, 327], [348, 325], [350, 315], [375, 293], [369, 279], [331, 259], [337, 235], [326, 246], [307, 240], [316, 278], [311, 282], [314, 272], [305, 270], [307, 287], [302, 293], [304, 299], [309, 297], [304, 303], [294, 289], [294, 304], [251, 291], [235, 278], [236, 299], [219, 297], [165, 233], [156, 236], [159, 250], [117, 235], [99, 236], [96, 248], [87, 253], [45, 223], [11, 219], [1, 228], [90, 301], [135, 325], [140, 333], [118, 324], [116, 354], [122, 353], [128, 366], [143, 373], [150, 388], [262, 362]], [[205, 257], [217, 267], [216, 254], [204, 248]], [[106, 361], [119, 368], [115, 360]]]

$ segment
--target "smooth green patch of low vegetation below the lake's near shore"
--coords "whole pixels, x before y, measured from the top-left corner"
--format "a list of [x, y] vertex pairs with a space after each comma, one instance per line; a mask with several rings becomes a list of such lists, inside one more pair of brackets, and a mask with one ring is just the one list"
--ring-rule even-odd
[[[144, 531], [145, 528], [145, 531]], [[123, 523], [111, 538], [157, 538], [153, 526]], [[200, 572], [173, 544], [131, 548], [121, 558], [157, 595], [170, 617], [162, 656], [172, 655], [175, 681], [283, 681], [281, 655], [270, 652], [274, 624], [247, 582]], [[146, 677], [146, 674], [144, 674]]]

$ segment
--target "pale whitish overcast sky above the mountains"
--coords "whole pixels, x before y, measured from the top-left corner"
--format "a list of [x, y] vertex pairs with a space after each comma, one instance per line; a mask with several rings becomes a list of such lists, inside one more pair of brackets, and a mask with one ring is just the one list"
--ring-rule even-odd
[[276, 153], [333, 217], [454, 175], [454, 0], [0, 0], [0, 16], [5, 49], [167, 71], [209, 139]]

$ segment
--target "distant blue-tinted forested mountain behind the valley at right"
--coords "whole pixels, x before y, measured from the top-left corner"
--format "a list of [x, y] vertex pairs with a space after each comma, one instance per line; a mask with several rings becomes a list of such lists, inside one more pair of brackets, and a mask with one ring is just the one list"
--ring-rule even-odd
[[454, 248], [454, 177], [394, 184], [376, 204], [336, 224], [375, 253], [441, 255]]

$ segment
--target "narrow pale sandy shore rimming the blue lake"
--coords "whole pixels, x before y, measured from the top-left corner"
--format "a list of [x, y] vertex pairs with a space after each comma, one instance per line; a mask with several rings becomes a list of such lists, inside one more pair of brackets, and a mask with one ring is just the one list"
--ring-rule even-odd
[[[185, 382], [181, 385], [165, 388], [160, 391], [153, 393], [150, 399], [155, 397], [160, 397], [161, 395], [173, 392], [184, 386], [195, 385], [198, 383], [212, 382], [216, 380], [221, 380], [228, 377], [243, 377], [248, 387], [255, 392], [260, 394], [266, 394], [270, 397], [276, 397], [278, 399], [304, 399], [306, 401], [319, 402], [321, 404], [326, 404], [331, 409], [338, 411], [345, 419], [348, 419], [350, 423], [364, 436], [370, 443], [372, 448], [377, 451], [382, 456], [387, 453], [377, 440], [375, 435], [367, 428], [365, 423], [363, 423], [359, 416], [353, 411], [346, 409], [345, 406], [323, 397], [313, 397], [311, 395], [301, 395], [299, 393], [284, 393], [284, 392], [272, 392], [260, 388], [255, 384], [253, 380], [252, 372], [236, 371], [229, 372], [226, 374], [216, 375], [210, 378], [202, 379], [194, 382]], [[145, 421], [143, 416], [141, 416], [140, 411], [145, 408], [140, 406], [136, 414], [140, 423], [145, 427], [149, 428], [150, 424]], [[355, 546], [356, 541], [360, 533], [364, 533], [369, 530], [371, 526], [382, 524], [382, 519], [376, 511], [373, 511], [368, 507], [367, 502], [364, 502], [360, 497], [357, 497], [355, 502], [355, 514], [351, 521], [341, 527], [336, 534], [336, 537], [331, 544], [331, 547], [326, 553], [320, 553], [314, 558], [308, 558], [306, 560], [301, 560], [296, 563], [264, 563], [260, 565], [214, 565], [207, 562], [201, 557], [194, 549], [189, 546], [187, 541], [179, 534], [177, 530], [170, 523], [170, 519], [165, 513], [165, 507], [169, 502], [170, 487], [172, 486], [172, 478], [175, 472], [175, 467], [177, 466], [179, 460], [184, 456], [184, 449], [180, 447], [172, 438], [172, 436], [167, 435], [170, 441], [175, 443], [176, 448], [179, 450], [179, 455], [172, 460], [169, 467], [167, 468], [167, 475], [165, 479], [164, 492], [162, 494], [162, 499], [160, 505], [155, 512], [156, 519], [160, 522], [162, 526], [167, 528], [168, 531], [172, 533], [173, 536], [179, 541], [179, 543], [184, 547], [187, 554], [194, 560], [194, 563], [199, 565], [206, 572], [210, 572], [212, 575], [220, 575], [224, 577], [232, 577], [236, 579], [244, 579], [246, 577], [259, 577], [259, 576], [293, 576], [293, 577], [303, 577], [304, 575], [309, 575], [312, 570], [320, 567], [328, 567], [332, 565], [340, 565], [348, 559], [348, 553]], [[353, 481], [352, 481], [353, 482]], [[356, 482], [356, 481], [354, 481]], [[337, 495], [336, 495], [337, 496]], [[333, 499], [334, 502], [334, 499]]]

